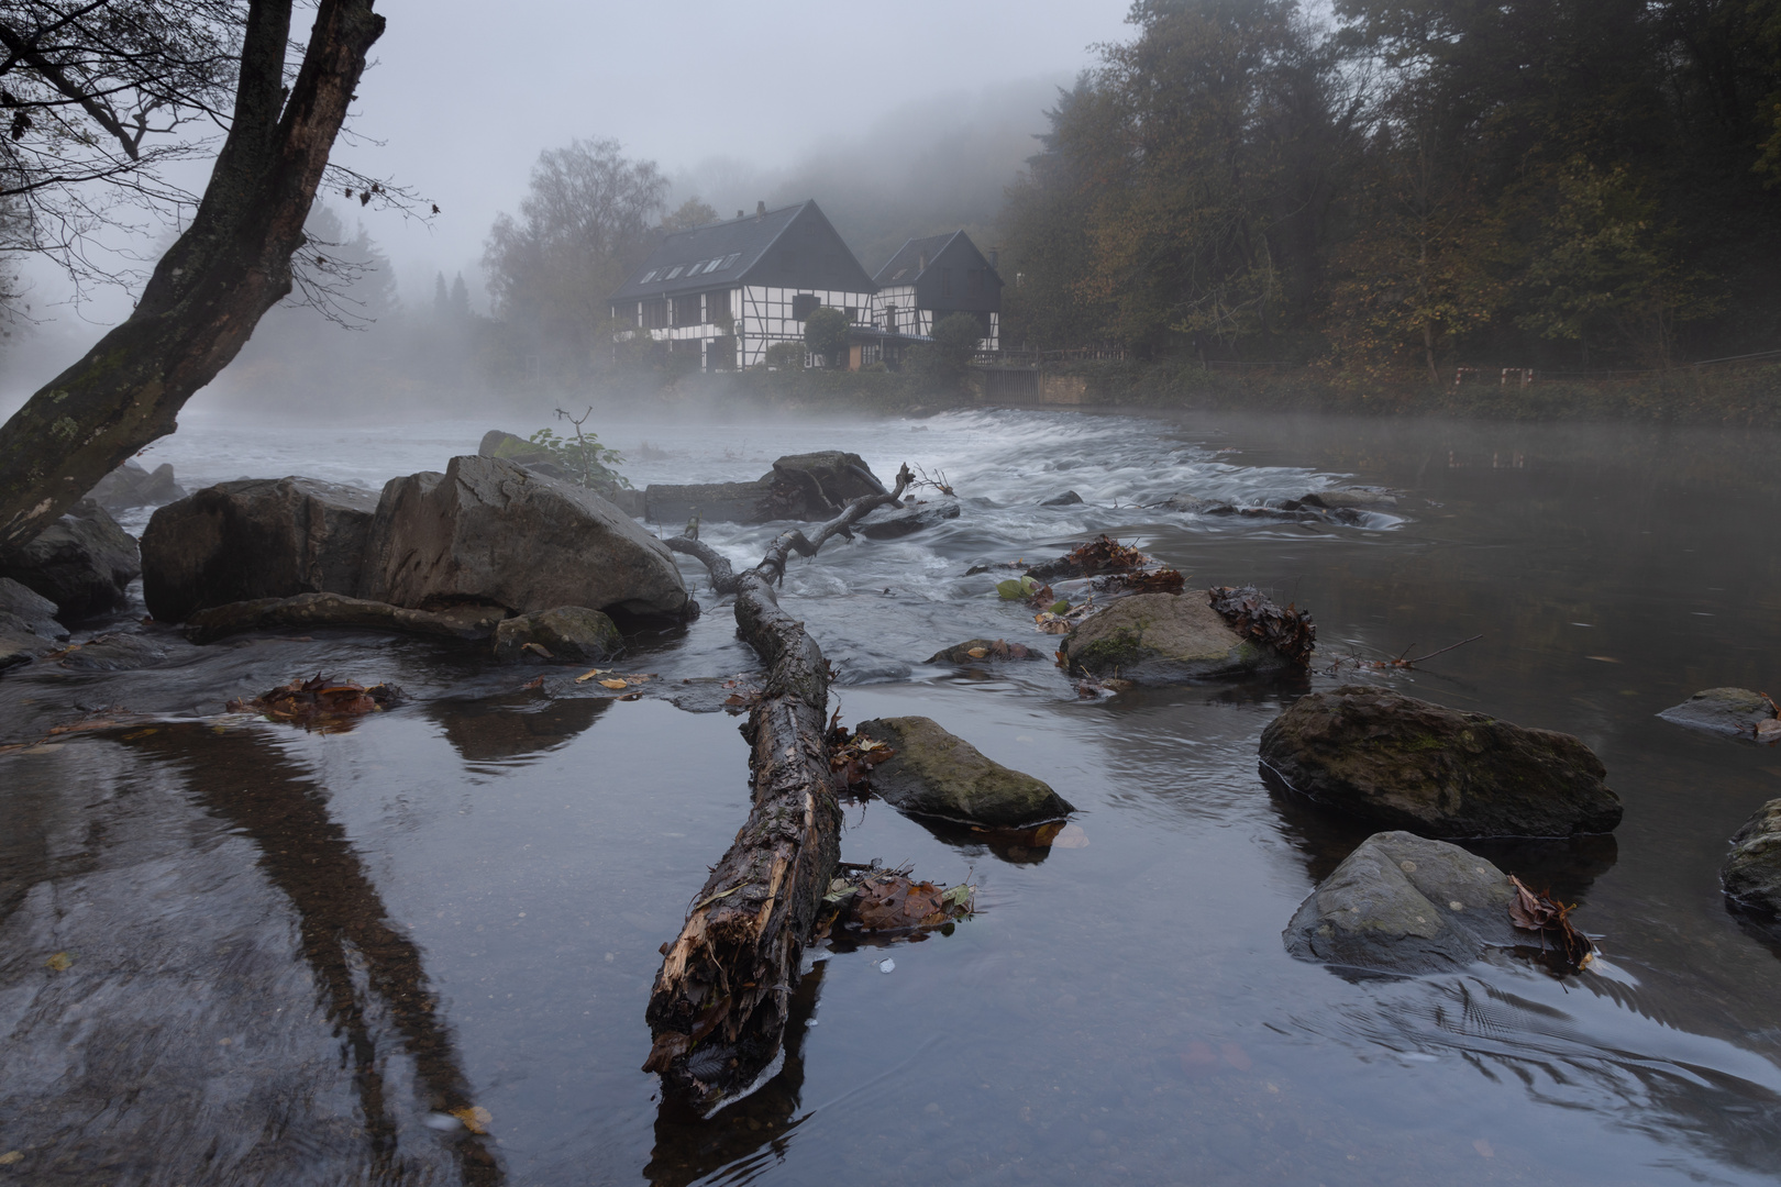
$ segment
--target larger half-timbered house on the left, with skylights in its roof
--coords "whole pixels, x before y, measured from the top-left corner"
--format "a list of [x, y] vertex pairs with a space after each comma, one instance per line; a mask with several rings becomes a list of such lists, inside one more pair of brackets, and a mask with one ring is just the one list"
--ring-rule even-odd
[[871, 319], [873, 281], [814, 201], [675, 231], [613, 294], [620, 336], [698, 354], [702, 370], [755, 367], [830, 306]]

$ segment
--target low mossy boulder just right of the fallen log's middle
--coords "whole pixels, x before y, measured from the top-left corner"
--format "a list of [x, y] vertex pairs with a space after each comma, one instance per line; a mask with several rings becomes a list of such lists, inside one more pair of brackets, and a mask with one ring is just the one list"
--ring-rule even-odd
[[874, 717], [855, 735], [896, 755], [873, 767], [873, 792], [892, 808], [985, 828], [1031, 828], [1076, 812], [1045, 783], [985, 758], [931, 717]]

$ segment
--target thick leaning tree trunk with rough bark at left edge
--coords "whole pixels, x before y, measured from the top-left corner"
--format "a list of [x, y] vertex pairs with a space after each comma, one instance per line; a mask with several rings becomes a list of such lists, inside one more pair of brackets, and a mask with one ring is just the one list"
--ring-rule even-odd
[[287, 94], [292, 0], [249, 0], [233, 123], [191, 228], [135, 311], [0, 427], [0, 557], [173, 432], [185, 400], [290, 292], [290, 254], [383, 32], [372, 2], [319, 0]]

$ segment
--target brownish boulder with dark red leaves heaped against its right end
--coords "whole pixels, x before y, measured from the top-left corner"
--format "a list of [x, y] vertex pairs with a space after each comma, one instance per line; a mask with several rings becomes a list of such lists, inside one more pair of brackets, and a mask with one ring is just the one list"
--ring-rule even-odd
[[1204, 591], [1120, 598], [1063, 641], [1072, 673], [1168, 685], [1288, 667], [1275, 648], [1241, 637]]

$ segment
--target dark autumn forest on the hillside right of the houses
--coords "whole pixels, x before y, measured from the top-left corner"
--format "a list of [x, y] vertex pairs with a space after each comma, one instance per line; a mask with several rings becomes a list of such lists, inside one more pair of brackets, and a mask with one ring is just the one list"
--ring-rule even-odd
[[1781, 0], [1138, 0], [1003, 212], [1006, 338], [1660, 368], [1781, 347]]

